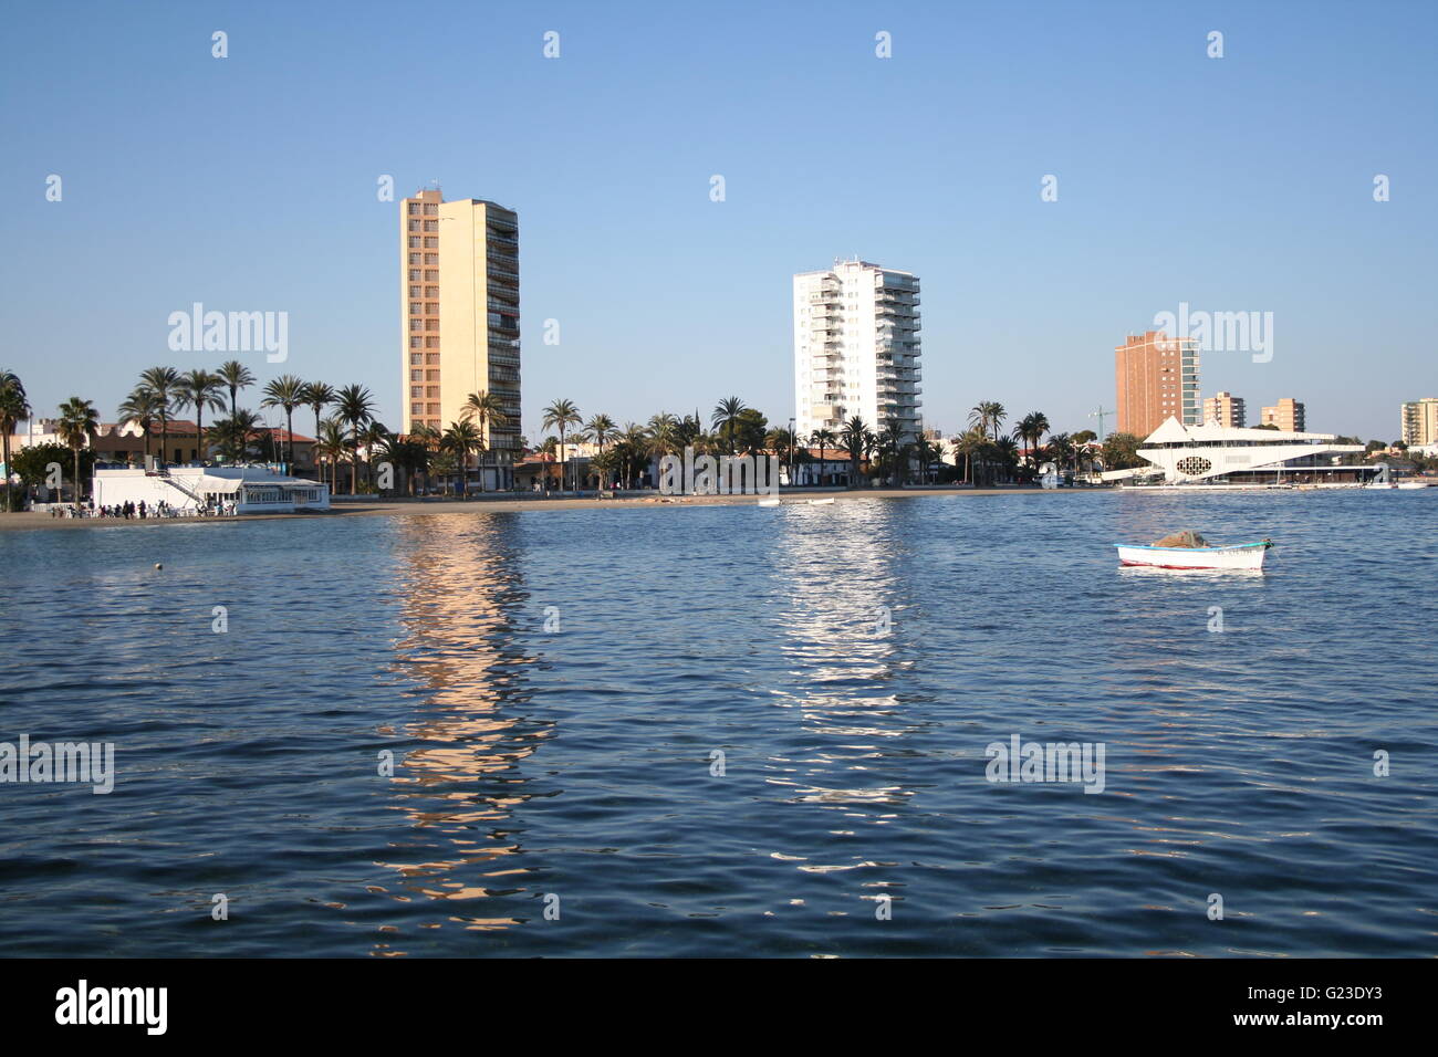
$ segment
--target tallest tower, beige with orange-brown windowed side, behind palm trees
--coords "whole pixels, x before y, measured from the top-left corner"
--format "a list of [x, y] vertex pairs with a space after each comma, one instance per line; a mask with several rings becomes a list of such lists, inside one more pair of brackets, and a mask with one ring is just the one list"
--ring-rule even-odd
[[[446, 430], [472, 393], [499, 398], [485, 423], [483, 486], [513, 483], [519, 454], [519, 217], [477, 198], [424, 190], [400, 203], [403, 431]], [[479, 426], [479, 417], [473, 417]]]

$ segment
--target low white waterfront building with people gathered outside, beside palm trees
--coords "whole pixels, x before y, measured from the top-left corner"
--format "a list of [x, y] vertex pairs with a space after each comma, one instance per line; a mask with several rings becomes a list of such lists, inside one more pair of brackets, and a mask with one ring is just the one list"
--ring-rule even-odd
[[95, 470], [95, 506], [160, 503], [181, 511], [295, 513], [328, 511], [329, 486], [267, 466], [171, 466], [165, 470]]

